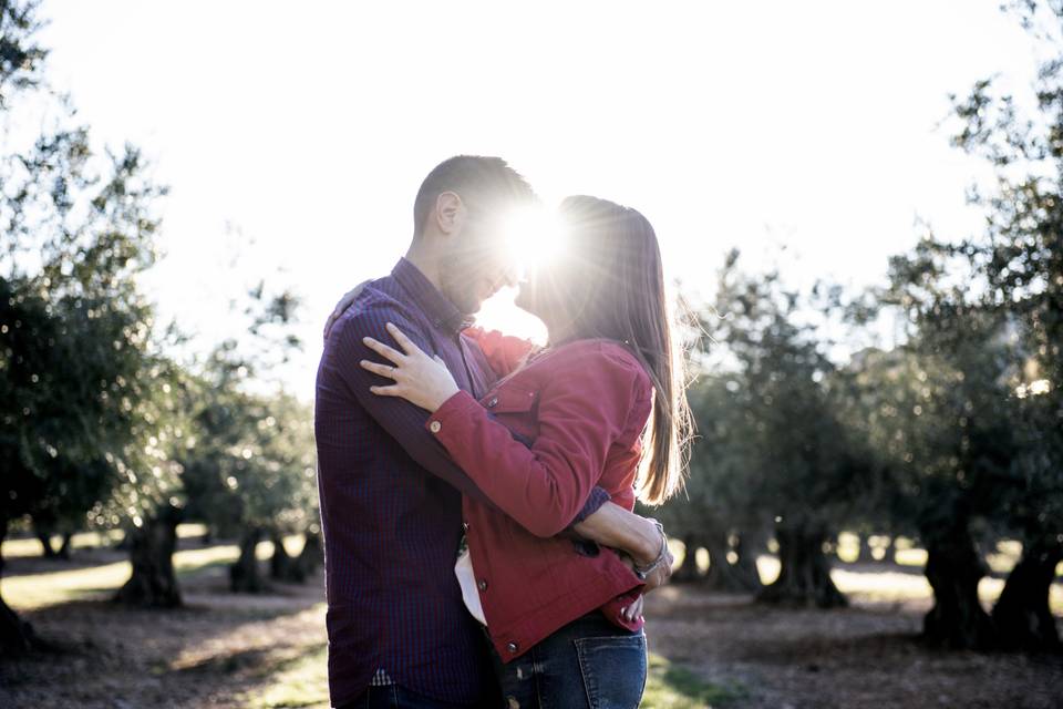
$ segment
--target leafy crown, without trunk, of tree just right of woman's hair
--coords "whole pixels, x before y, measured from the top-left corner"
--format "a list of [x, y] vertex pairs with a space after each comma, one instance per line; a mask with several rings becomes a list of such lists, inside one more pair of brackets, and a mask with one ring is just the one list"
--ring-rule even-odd
[[834, 526], [850, 514], [864, 451], [838, 420], [836, 368], [803, 307], [777, 274], [742, 273], [736, 251], [720, 274], [690, 395], [699, 440], [688, 489], [703, 514], [740, 527]]

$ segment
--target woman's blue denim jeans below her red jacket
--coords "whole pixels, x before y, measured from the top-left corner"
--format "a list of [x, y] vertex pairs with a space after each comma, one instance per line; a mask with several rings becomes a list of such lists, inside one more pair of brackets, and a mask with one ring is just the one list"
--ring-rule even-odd
[[594, 610], [504, 665], [504, 709], [636, 709], [646, 688], [646, 635]]

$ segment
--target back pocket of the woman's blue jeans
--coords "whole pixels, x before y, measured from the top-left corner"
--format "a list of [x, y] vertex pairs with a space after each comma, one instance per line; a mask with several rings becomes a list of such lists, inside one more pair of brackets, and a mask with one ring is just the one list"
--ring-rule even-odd
[[590, 709], [636, 709], [646, 688], [646, 636], [579, 638], [575, 643]]

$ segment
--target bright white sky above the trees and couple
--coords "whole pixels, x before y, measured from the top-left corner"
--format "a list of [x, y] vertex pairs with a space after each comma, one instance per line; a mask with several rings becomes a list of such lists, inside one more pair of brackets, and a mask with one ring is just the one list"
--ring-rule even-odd
[[[785, 245], [794, 282], [865, 285], [922, 217], [977, 228], [948, 94], [1035, 56], [999, 0], [225, 2], [45, 0], [51, 78], [101, 144], [138, 144], [165, 202], [146, 287], [206, 350], [259, 278], [305, 299], [312, 397], [337, 298], [404, 253], [421, 179], [500, 155], [548, 201], [657, 228], [670, 275]], [[482, 321], [535, 332], [503, 292]]]

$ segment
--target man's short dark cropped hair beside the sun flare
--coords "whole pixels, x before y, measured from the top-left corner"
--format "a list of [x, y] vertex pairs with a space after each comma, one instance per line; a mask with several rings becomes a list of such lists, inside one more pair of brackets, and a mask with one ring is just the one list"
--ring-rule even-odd
[[471, 209], [533, 203], [527, 181], [500, 157], [455, 155], [436, 165], [421, 183], [413, 203], [413, 236], [420, 238], [435, 201], [444, 192], [458, 195]]

